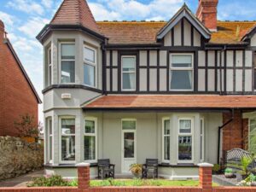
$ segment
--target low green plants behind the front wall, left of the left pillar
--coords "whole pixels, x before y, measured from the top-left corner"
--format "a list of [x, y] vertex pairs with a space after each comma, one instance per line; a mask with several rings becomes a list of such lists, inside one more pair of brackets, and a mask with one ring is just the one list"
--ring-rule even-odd
[[27, 184], [28, 187], [52, 187], [52, 186], [69, 186], [67, 180], [63, 179], [60, 175], [52, 175], [50, 177], [36, 177], [32, 179], [31, 183]]

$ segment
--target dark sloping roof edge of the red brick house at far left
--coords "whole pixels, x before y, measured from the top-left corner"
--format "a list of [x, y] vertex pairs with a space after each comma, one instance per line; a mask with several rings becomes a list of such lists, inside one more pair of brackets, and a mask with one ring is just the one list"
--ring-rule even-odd
[[14, 55], [15, 61], [18, 63], [18, 65], [19, 65], [19, 67], [20, 67], [20, 70], [21, 70], [21, 72], [23, 73], [23, 75], [24, 75], [24, 77], [25, 77], [27, 83], [28, 83], [29, 86], [31, 87], [34, 96], [36, 96], [36, 98], [37, 98], [37, 100], [38, 100], [38, 103], [39, 103], [39, 104], [42, 103], [40, 97], [38, 96], [37, 90], [36, 90], [35, 87], [33, 86], [31, 79], [29, 79], [29, 77], [28, 77], [28, 75], [27, 75], [27, 73], [26, 73], [26, 71], [25, 71], [25, 68], [22, 66], [22, 64], [21, 64], [21, 62], [20, 62], [20, 59], [19, 59], [18, 55], [16, 54], [15, 49], [13, 48], [12, 44], [9, 42], [9, 39], [8, 39], [8, 38], [5, 38], [5, 39], [4, 39], [4, 44], [7, 44], [7, 45], [8, 45], [9, 50], [10, 50], [11, 53]]

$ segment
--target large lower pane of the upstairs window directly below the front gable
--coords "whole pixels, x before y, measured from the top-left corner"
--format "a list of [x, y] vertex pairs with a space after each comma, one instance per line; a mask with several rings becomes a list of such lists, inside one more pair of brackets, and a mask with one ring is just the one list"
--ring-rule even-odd
[[172, 90], [192, 90], [192, 71], [171, 71]]

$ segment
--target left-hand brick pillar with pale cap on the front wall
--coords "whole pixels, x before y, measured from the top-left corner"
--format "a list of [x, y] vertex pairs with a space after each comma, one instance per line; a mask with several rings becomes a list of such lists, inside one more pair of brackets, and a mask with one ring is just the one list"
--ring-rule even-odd
[[77, 167], [79, 191], [88, 192], [90, 186], [90, 163], [79, 163]]

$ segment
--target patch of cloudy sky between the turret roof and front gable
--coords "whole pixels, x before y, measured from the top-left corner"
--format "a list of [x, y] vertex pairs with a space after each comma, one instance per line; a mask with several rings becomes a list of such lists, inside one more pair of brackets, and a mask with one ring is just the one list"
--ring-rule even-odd
[[99, 0], [89, 3], [96, 20], [169, 20], [183, 0]]

